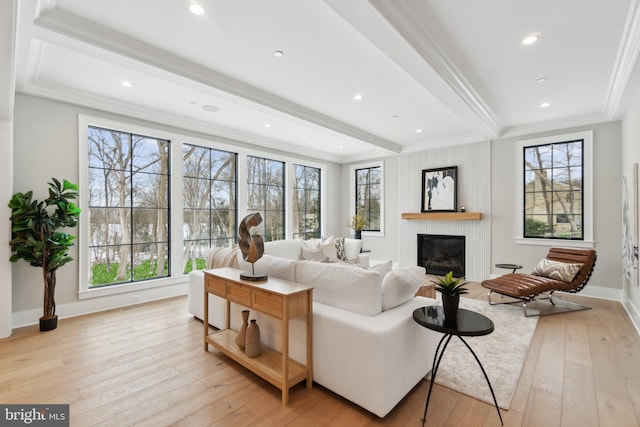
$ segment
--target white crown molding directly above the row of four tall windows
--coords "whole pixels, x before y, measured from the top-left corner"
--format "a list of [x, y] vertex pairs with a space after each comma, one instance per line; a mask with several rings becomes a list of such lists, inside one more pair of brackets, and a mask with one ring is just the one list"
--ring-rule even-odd
[[85, 108], [91, 108], [99, 111], [105, 111], [120, 117], [128, 117], [137, 120], [144, 120], [150, 123], [156, 123], [162, 126], [171, 126], [178, 129], [197, 132], [214, 138], [216, 141], [229, 145], [252, 145], [260, 149], [268, 148], [272, 150], [282, 151], [287, 155], [297, 153], [303, 157], [326, 160], [334, 163], [342, 163], [342, 157], [322, 151], [305, 148], [301, 153], [300, 146], [288, 144], [286, 142], [265, 138], [249, 132], [243, 132], [238, 129], [228, 128], [215, 125], [200, 120], [194, 120], [186, 117], [177, 116], [172, 113], [153, 110], [148, 107], [141, 107], [128, 102], [122, 102], [111, 98], [105, 98], [93, 93], [71, 89], [66, 86], [56, 86], [52, 84], [26, 85], [21, 93], [26, 95], [37, 96], [40, 98], [51, 99], [54, 101], [66, 102]]

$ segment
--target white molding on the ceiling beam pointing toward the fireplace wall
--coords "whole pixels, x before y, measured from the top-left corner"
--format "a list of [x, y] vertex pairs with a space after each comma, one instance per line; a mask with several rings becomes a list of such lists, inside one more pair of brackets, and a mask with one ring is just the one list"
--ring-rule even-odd
[[[492, 139], [500, 136], [503, 124], [420, 21], [420, 11], [415, 5], [407, 0], [394, 2], [369, 0], [369, 3], [455, 93], [459, 106], [452, 111], [457, 113], [464, 122], [471, 123], [484, 138]], [[451, 107], [450, 102], [443, 102]]]

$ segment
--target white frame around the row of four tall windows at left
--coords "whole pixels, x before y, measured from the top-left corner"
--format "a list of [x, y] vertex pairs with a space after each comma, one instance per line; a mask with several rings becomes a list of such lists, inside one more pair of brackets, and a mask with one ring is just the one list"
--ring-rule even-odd
[[[88, 287], [89, 277], [89, 257], [87, 248], [89, 246], [88, 230], [89, 230], [89, 216], [80, 215], [79, 221], [79, 233], [78, 233], [78, 263], [79, 263], [79, 285], [78, 285], [78, 298], [80, 300], [106, 297], [106, 296], [118, 296], [131, 292], [140, 291], [154, 291], [158, 290], [156, 294], [160, 294], [159, 289], [161, 287], [170, 287], [172, 285], [184, 285], [187, 282], [188, 275], [184, 275], [182, 272], [182, 248], [184, 248], [183, 241], [183, 209], [179, 208], [183, 206], [183, 177], [182, 177], [182, 148], [185, 143], [198, 145], [207, 148], [213, 148], [217, 150], [229, 151], [237, 154], [237, 215], [238, 221], [247, 215], [247, 195], [246, 195], [246, 182], [247, 182], [247, 156], [264, 157], [272, 160], [283, 161], [285, 163], [285, 238], [289, 239], [292, 236], [293, 230], [291, 227], [291, 206], [292, 204], [292, 186], [293, 178], [293, 163], [305, 166], [311, 166], [319, 168], [321, 171], [321, 192], [320, 192], [320, 209], [321, 209], [321, 233], [325, 230], [325, 218], [326, 218], [326, 171], [327, 164], [318, 163], [314, 161], [308, 161], [302, 158], [296, 158], [292, 156], [282, 156], [272, 152], [261, 150], [259, 147], [245, 147], [239, 145], [237, 141], [233, 141], [224, 137], [216, 135], [208, 135], [206, 139], [203, 137], [195, 137], [187, 135], [186, 133], [180, 133], [176, 131], [164, 130], [160, 125], [157, 127], [148, 127], [135, 123], [135, 119], [121, 119], [113, 120], [98, 116], [91, 116], [85, 114], [78, 114], [78, 165], [79, 165], [79, 197], [78, 206], [83, 212], [88, 212], [88, 197], [87, 193], [84, 193], [88, 188], [89, 182], [89, 167], [88, 167], [88, 127], [96, 126], [101, 128], [113, 129], [116, 131], [151, 135], [154, 138], [167, 139], [171, 141], [170, 158], [172, 159], [169, 167], [171, 175], [170, 204], [174, 207], [170, 211], [170, 236], [171, 236], [171, 253], [170, 253], [170, 271], [171, 276], [158, 279], [150, 279], [138, 282], [127, 282], [122, 284], [114, 284], [101, 288], [90, 289]], [[177, 249], [176, 249], [177, 248]], [[131, 296], [131, 300], [127, 296], [119, 296], [118, 301], [128, 303], [133, 301], [136, 296]], [[124, 298], [124, 299], [122, 299]], [[137, 296], [139, 298], [139, 295]]]

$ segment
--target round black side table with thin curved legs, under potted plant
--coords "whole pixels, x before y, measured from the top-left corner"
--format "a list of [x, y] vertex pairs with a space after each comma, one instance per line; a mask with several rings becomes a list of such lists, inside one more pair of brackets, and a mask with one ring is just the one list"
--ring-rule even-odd
[[[502, 414], [500, 413], [500, 408], [498, 407], [498, 401], [496, 400], [496, 395], [493, 392], [493, 387], [491, 386], [491, 381], [489, 381], [489, 377], [480, 363], [480, 359], [471, 349], [469, 344], [462, 337], [478, 337], [482, 335], [488, 335], [493, 332], [493, 321], [489, 319], [487, 316], [484, 316], [480, 313], [476, 313], [475, 311], [465, 310], [463, 308], [458, 309], [458, 317], [456, 319], [455, 324], [445, 323], [444, 321], [444, 310], [442, 306], [429, 306], [429, 307], [420, 307], [413, 311], [413, 320], [415, 320], [418, 324], [424, 326], [427, 329], [431, 329], [432, 331], [442, 332], [444, 335], [440, 339], [438, 343], [438, 347], [436, 347], [436, 354], [433, 359], [433, 365], [431, 366], [431, 383], [429, 384], [429, 393], [427, 394], [427, 403], [424, 405], [424, 415], [422, 417], [422, 426], [424, 427], [424, 423], [427, 420], [427, 408], [429, 407], [429, 399], [431, 398], [431, 390], [433, 389], [433, 383], [436, 380], [436, 374], [438, 373], [438, 368], [440, 367], [440, 361], [442, 360], [442, 355], [444, 355], [444, 351], [447, 349], [451, 338], [456, 336], [460, 341], [464, 343], [464, 345], [469, 349], [473, 357], [478, 362], [478, 366], [482, 370], [484, 374], [484, 378], [487, 380], [487, 384], [489, 385], [489, 390], [491, 390], [491, 397], [493, 397], [493, 403], [496, 406], [496, 410], [498, 411], [498, 417], [500, 417], [500, 424], [504, 425], [502, 422]], [[444, 342], [444, 346], [442, 343]], [[440, 350], [442, 347], [442, 351]]]

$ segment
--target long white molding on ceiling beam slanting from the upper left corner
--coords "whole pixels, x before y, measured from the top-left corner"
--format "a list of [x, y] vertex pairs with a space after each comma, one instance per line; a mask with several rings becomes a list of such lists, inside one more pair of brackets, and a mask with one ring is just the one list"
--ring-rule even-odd
[[83, 19], [60, 9], [43, 11], [36, 19], [35, 24], [40, 28], [63, 34], [71, 39], [222, 90], [244, 100], [255, 102], [275, 111], [377, 147], [396, 153], [401, 150], [401, 146], [393, 141], [370, 134], [362, 129], [358, 129], [332, 117], [288, 101], [216, 70], [188, 61], [180, 56], [173, 55], [155, 46], [128, 37], [101, 26], [96, 22]]

